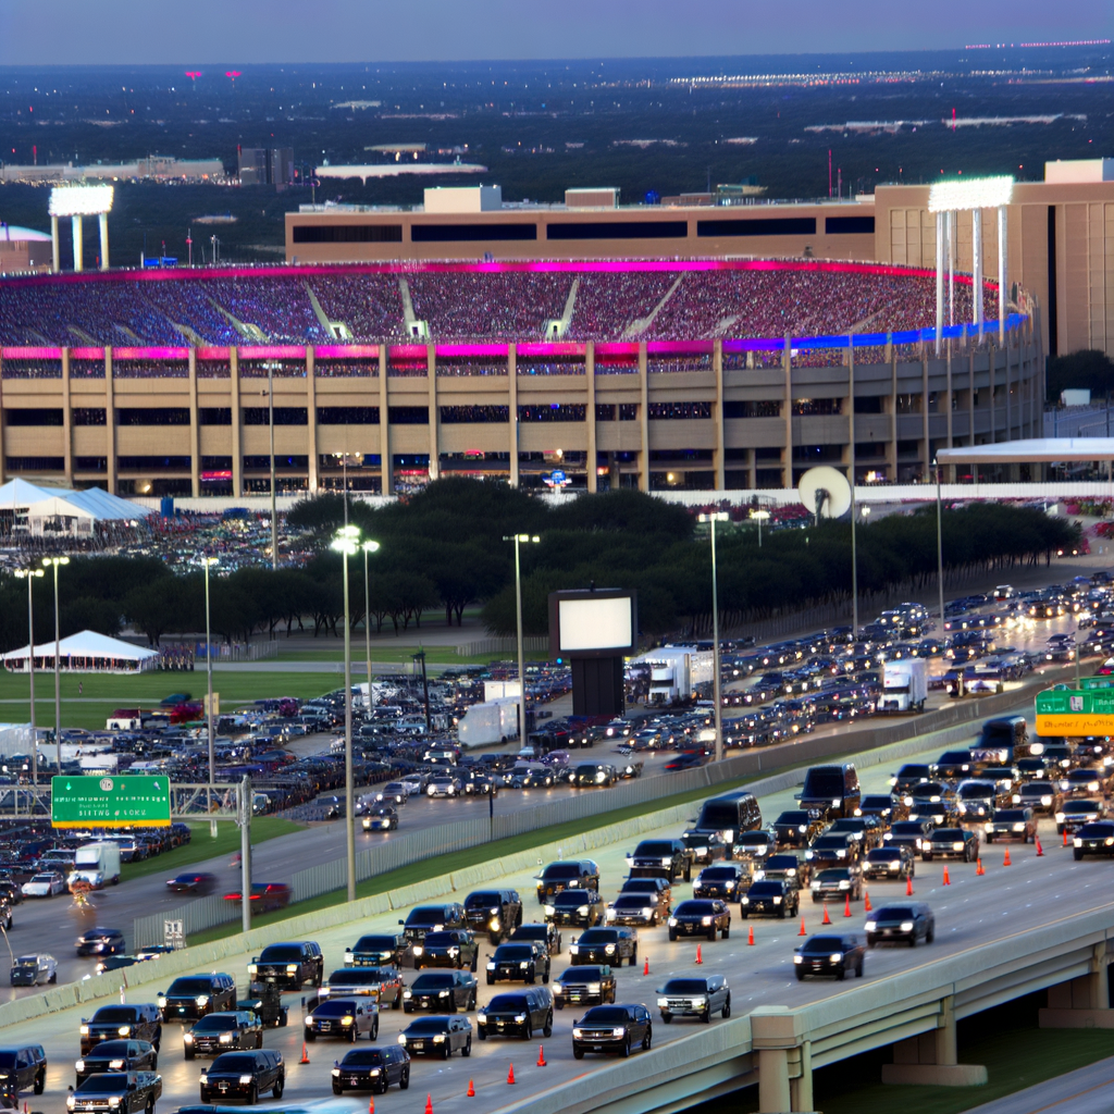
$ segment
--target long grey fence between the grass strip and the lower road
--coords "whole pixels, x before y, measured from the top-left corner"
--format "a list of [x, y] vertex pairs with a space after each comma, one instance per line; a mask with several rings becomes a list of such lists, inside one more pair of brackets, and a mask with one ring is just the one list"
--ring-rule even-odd
[[[694, 790], [716, 788], [730, 782], [741, 781], [754, 774], [770, 774], [786, 766], [798, 766], [836, 754], [873, 751], [890, 743], [913, 739], [928, 732], [969, 724], [987, 715], [1004, 713], [1017, 706], [1027, 698], [1028, 691], [1047, 687], [1061, 674], [1071, 673], [1069, 667], [1048, 671], [1019, 690], [957, 701], [935, 712], [909, 719], [883, 721], [870, 720], [863, 726], [854, 724], [847, 730], [837, 729], [831, 734], [798, 736], [790, 743], [779, 743], [774, 746], [755, 749], [724, 759], [722, 762], [697, 766], [681, 773], [636, 779], [622, 782], [609, 790], [586, 789], [576, 797], [566, 797], [557, 801], [548, 801], [529, 811], [499, 814], [496, 799], [496, 815], [492, 819], [476, 818], [459, 820], [449, 824], [436, 824], [420, 831], [405, 834], [392, 833], [379, 846], [360, 851], [356, 854], [355, 873], [358, 881], [367, 881], [379, 874], [408, 867], [424, 859], [433, 859], [453, 851], [462, 851], [478, 847], [491, 840], [509, 839], [524, 836], [554, 824], [585, 820], [602, 815], [618, 809], [648, 804]], [[961, 737], [961, 734], [960, 736]], [[587, 756], [587, 755], [586, 755]], [[600, 761], [606, 759], [602, 755]], [[695, 805], [686, 805], [692, 810]], [[307, 870], [300, 870], [291, 879], [293, 900], [304, 901], [333, 890], [343, 889], [346, 885], [346, 862], [344, 859], [333, 859], [319, 863]], [[186, 910], [196, 902], [180, 906], [165, 913], [149, 917], [138, 917], [133, 922], [133, 948], [147, 947], [163, 942], [163, 921], [183, 920], [187, 916], [194, 918], [194, 928], [186, 929], [199, 932], [218, 925], [229, 924], [240, 918], [240, 910], [232, 902], [224, 902], [223, 908], [206, 906], [208, 913]], [[205, 918], [208, 917], [206, 920]], [[198, 919], [199, 918], [199, 919]]]

